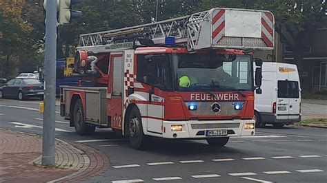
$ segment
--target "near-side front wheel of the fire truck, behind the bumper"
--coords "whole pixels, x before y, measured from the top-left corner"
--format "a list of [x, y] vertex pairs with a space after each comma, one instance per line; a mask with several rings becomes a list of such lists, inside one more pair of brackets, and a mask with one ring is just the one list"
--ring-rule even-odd
[[132, 107], [128, 114], [128, 137], [134, 149], [144, 149], [146, 146], [146, 136], [143, 133], [141, 115], [137, 107]]

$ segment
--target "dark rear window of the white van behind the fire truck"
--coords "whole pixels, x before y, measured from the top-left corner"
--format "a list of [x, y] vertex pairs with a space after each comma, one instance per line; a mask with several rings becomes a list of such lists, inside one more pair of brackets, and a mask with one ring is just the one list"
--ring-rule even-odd
[[279, 80], [278, 98], [299, 98], [299, 82]]

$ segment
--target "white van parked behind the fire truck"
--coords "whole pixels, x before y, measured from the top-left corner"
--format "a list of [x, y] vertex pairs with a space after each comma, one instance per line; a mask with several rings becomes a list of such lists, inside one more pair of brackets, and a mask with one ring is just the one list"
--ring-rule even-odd
[[257, 127], [273, 124], [283, 127], [301, 121], [301, 88], [297, 65], [262, 65], [262, 94], [255, 94]]

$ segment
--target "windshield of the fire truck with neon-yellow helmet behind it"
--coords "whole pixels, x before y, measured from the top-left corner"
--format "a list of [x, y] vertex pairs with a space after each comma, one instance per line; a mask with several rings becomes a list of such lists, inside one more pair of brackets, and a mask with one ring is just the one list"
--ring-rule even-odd
[[248, 55], [172, 54], [178, 91], [252, 91], [252, 66]]

